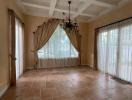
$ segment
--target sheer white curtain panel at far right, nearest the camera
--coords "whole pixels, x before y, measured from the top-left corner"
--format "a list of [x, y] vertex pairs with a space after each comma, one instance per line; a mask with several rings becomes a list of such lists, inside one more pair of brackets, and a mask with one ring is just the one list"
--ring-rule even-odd
[[118, 76], [132, 82], [132, 23], [121, 26], [119, 48]]

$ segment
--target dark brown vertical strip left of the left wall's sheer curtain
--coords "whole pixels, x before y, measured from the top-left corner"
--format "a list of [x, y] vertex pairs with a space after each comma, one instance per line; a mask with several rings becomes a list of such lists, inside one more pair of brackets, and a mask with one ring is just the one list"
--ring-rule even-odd
[[10, 85], [16, 85], [16, 57], [15, 57], [15, 13], [8, 9], [9, 14], [9, 67], [10, 67]]

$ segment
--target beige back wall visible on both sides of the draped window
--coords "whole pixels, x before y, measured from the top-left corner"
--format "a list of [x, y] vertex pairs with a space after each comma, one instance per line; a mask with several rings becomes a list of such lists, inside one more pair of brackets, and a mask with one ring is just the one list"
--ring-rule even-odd
[[[37, 26], [41, 25], [44, 21], [48, 20], [46, 17], [36, 17], [25, 15], [25, 39], [26, 39], [26, 67], [32, 68], [34, 65], [34, 45], [33, 45], [33, 32], [36, 30]], [[80, 23], [80, 33], [82, 34], [82, 64], [86, 65], [86, 43], [87, 43], [87, 33], [88, 28], [86, 23]], [[84, 46], [85, 45], [85, 46]]]

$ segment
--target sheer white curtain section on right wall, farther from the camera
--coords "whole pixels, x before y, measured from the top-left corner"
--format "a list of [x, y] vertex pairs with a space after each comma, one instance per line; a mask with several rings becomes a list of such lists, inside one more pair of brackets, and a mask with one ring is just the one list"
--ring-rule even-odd
[[[100, 31], [101, 32], [101, 31]], [[115, 75], [118, 48], [118, 31], [116, 29], [102, 31], [98, 40], [99, 69]], [[105, 62], [105, 63], [104, 63]], [[107, 67], [106, 67], [107, 66]]]

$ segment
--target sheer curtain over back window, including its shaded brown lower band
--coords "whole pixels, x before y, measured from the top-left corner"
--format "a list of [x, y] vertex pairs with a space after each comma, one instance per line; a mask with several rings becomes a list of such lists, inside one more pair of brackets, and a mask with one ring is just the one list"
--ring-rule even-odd
[[39, 68], [76, 66], [79, 64], [78, 52], [60, 26], [38, 51], [38, 58]]

